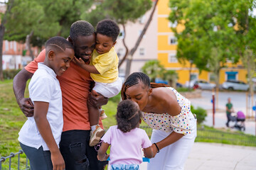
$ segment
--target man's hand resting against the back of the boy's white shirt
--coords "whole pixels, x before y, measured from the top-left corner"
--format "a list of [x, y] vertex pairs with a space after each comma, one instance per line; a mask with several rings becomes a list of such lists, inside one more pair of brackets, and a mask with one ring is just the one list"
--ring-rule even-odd
[[21, 111], [24, 115], [26, 115], [26, 117], [33, 116], [34, 106], [31, 98], [22, 98], [21, 101], [18, 101], [18, 106], [21, 108]]

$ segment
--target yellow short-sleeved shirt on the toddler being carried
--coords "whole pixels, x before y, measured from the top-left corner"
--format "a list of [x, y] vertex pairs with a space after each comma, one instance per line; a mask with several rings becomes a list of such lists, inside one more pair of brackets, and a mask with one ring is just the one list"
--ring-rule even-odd
[[118, 78], [118, 57], [114, 47], [102, 55], [96, 50], [92, 53], [91, 65], [94, 65], [100, 74], [90, 74], [92, 79], [101, 83], [112, 83]]

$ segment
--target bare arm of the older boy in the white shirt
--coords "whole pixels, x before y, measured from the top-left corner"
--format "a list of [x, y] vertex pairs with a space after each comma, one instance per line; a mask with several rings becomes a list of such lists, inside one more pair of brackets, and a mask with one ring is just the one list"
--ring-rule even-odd
[[60, 150], [58, 149], [58, 145], [56, 144], [50, 129], [50, 124], [46, 118], [49, 103], [43, 101], [34, 101], [34, 103], [35, 111], [33, 117], [43, 140], [50, 149], [50, 158], [53, 163], [53, 169], [65, 169], [64, 159], [60, 154]]

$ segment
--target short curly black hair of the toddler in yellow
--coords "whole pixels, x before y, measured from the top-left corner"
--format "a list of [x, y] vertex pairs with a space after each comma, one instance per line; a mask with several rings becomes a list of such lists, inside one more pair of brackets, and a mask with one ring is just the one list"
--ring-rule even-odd
[[111, 37], [113, 42], [117, 40], [120, 29], [116, 22], [111, 19], [105, 19], [97, 23], [96, 33]]

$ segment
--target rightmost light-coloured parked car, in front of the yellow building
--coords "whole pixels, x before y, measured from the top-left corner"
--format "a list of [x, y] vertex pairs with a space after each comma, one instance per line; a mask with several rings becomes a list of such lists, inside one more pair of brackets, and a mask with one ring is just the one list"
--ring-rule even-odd
[[228, 90], [242, 90], [242, 91], [247, 91], [249, 89], [249, 85], [245, 84], [243, 81], [237, 81], [237, 80], [228, 80], [225, 81], [222, 84], [223, 89], [228, 89]]

